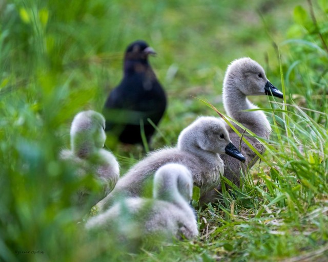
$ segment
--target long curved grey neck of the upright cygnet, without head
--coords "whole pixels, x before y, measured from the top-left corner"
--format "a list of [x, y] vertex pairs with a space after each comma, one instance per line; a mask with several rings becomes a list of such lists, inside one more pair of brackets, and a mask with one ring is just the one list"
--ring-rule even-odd
[[268, 138], [270, 123], [262, 111], [248, 111], [258, 108], [233, 84], [223, 88], [223, 106], [227, 114], [249, 128], [256, 135]]

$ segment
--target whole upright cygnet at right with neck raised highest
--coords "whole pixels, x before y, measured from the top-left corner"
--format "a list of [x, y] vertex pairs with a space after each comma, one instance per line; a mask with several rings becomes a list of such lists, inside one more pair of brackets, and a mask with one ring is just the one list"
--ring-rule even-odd
[[[258, 107], [250, 102], [247, 96], [269, 95], [283, 98], [283, 94], [268, 80], [264, 69], [261, 65], [249, 57], [243, 57], [234, 60], [227, 68], [223, 80], [223, 106], [227, 114], [249, 128], [257, 136], [269, 139], [271, 133], [270, 123], [262, 111], [246, 111], [255, 110]], [[243, 129], [235, 125], [240, 133]], [[229, 136], [232, 143], [240, 143], [240, 137], [234, 130], [228, 127]], [[263, 154], [265, 148], [258, 142], [255, 137], [247, 134], [244, 137]], [[246, 172], [258, 160], [258, 156], [253, 150], [241, 142], [241, 154], [245, 157], [245, 162], [241, 163], [232, 158], [222, 155], [224, 163], [224, 177], [227, 177], [237, 186], [240, 183], [241, 171]], [[220, 185], [216, 188], [221, 190]], [[216, 190], [209, 192], [203, 198], [203, 202], [217, 200]]]

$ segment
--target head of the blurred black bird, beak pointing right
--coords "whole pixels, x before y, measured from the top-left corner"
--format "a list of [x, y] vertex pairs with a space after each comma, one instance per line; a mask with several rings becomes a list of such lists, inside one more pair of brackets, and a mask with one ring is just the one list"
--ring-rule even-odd
[[153, 48], [148, 46], [148, 43], [143, 40], [137, 40], [130, 43], [128, 46], [125, 59], [126, 60], [138, 60], [138, 61], [148, 61], [149, 55], [155, 55], [156, 52]]

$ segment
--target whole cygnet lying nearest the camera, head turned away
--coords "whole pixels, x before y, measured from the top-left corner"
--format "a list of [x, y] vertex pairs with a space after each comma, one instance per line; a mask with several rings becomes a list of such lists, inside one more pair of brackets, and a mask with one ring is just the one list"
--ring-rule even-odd
[[[126, 198], [91, 218], [87, 229], [117, 233], [127, 243], [147, 239], [193, 238], [198, 235], [192, 197], [192, 175], [180, 164], [166, 164], [154, 176], [153, 199]], [[131, 245], [129, 245], [131, 246]]]

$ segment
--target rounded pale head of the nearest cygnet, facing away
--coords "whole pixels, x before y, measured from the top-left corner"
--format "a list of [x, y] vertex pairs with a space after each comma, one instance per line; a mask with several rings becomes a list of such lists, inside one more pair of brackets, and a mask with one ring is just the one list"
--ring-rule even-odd
[[170, 163], [155, 173], [153, 197], [161, 200], [177, 199], [177, 192], [189, 203], [193, 194], [193, 178], [187, 167]]

